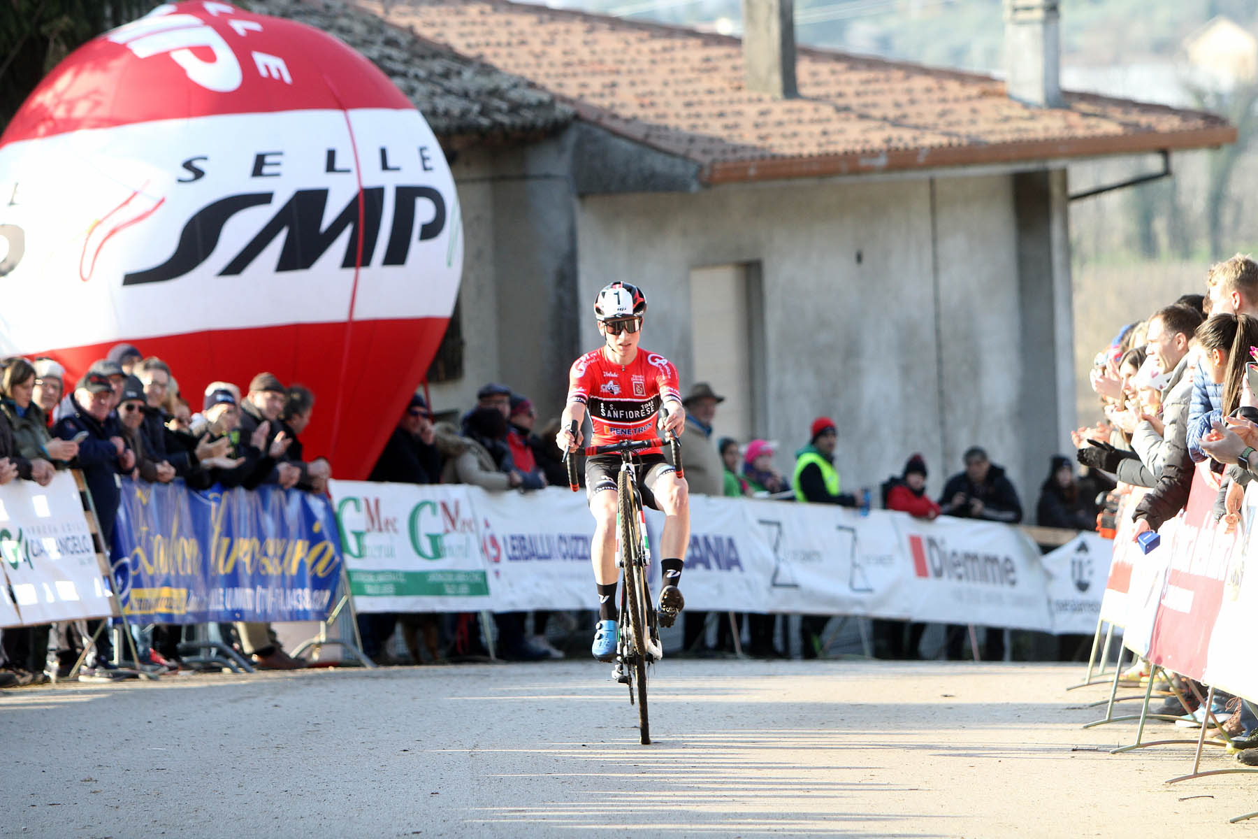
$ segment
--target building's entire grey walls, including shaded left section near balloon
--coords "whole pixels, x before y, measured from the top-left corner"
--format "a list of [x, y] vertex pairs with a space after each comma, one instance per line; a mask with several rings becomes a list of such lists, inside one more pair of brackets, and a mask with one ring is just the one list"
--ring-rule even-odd
[[463, 379], [431, 387], [438, 410], [493, 380], [540, 423], [557, 416], [571, 360], [600, 343], [590, 303], [615, 279], [648, 293], [643, 346], [683, 389], [702, 381], [691, 270], [747, 264], [764, 346], [750, 415], [781, 444], [779, 468], [824, 414], [848, 489], [921, 452], [937, 496], [977, 444], [1033, 514], [1074, 414], [1064, 172], [579, 196], [580, 137], [454, 161], [467, 343]]

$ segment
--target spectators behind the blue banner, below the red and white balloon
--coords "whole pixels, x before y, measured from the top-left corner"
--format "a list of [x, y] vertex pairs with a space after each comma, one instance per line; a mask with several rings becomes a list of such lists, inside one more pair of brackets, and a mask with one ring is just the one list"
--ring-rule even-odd
[[[313, 410], [308, 389], [284, 386], [269, 372], [254, 376], [244, 395], [225, 381], [200, 396], [181, 394], [169, 365], [126, 343], [78, 379], [52, 358], [10, 357], [0, 361], [0, 484], [25, 479], [47, 486], [58, 469], [79, 469], [108, 546], [120, 477], [155, 483], [179, 478], [192, 488], [276, 484], [326, 492], [328, 462], [307, 460], [302, 450], [301, 434]], [[64, 677], [89, 644], [86, 678], [132, 675], [112, 663], [111, 633], [101, 631], [101, 623], [86, 621], [86, 631], [77, 621], [3, 630], [0, 687], [40, 683], [49, 673]], [[221, 631], [259, 667], [303, 667], [284, 653], [269, 624], [239, 623]], [[182, 633], [181, 626], [146, 628], [136, 639], [138, 664], [177, 669]]]

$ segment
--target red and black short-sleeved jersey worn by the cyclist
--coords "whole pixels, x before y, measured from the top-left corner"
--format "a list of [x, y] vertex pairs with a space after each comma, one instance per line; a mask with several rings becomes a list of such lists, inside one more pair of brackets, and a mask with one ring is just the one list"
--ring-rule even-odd
[[580, 403], [590, 413], [591, 445], [649, 440], [657, 435], [655, 419], [663, 400], [682, 399], [677, 367], [642, 347], [632, 362], [619, 365], [608, 358], [605, 350], [586, 352], [572, 362], [567, 401]]

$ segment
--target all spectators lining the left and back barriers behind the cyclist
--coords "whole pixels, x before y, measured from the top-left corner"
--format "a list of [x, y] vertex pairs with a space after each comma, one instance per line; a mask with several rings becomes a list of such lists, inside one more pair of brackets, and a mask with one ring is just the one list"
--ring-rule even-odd
[[[1123, 366], [1123, 362], [1130, 362]], [[1141, 357], [1123, 351], [1115, 358], [1116, 374], [1127, 371], [1137, 381]], [[1176, 380], [1177, 381], [1177, 380]], [[199, 396], [194, 413], [170, 367], [156, 357], [143, 357], [135, 347], [120, 345], [109, 357], [93, 364], [73, 387], [67, 372], [50, 358], [10, 358], [0, 389], [0, 483], [13, 479], [47, 482], [55, 469], [83, 470], [103, 536], [109, 538], [118, 506], [116, 475], [170, 482], [191, 488], [214, 483], [254, 488], [270, 483], [322, 493], [331, 468], [326, 459], [306, 459], [301, 434], [311, 421], [314, 394], [302, 385], [286, 386], [274, 375], [259, 372], [242, 392], [233, 382], [211, 382]], [[1146, 390], [1151, 387], [1146, 384]], [[1154, 384], [1166, 384], [1159, 380]], [[1135, 386], [1135, 385], [1133, 385]], [[1147, 395], [1147, 394], [1146, 394]], [[398, 419], [369, 479], [399, 483], [464, 483], [491, 492], [530, 492], [564, 486], [567, 472], [555, 447], [559, 420], [535, 433], [537, 414], [525, 395], [497, 382], [477, 391], [467, 413], [438, 421], [424, 396], [415, 394]], [[195, 399], [192, 400], [195, 404]], [[715, 438], [717, 414], [725, 397], [704, 384], [684, 396], [686, 477], [691, 492], [710, 496], [757, 497], [788, 502], [837, 504], [868, 509], [874, 506], [868, 488], [852, 491], [839, 475], [837, 424], [816, 418], [804, 429], [806, 442], [795, 452], [794, 468], [780, 473], [774, 459], [776, 443]], [[1172, 425], [1174, 428], [1174, 425]], [[1154, 449], [1144, 438], [1140, 444]], [[1160, 448], [1160, 447], [1159, 447]], [[1018, 492], [1000, 465], [981, 448], [964, 455], [964, 470], [952, 475], [936, 501], [926, 492], [927, 464], [920, 454], [905, 463], [899, 475], [882, 484], [887, 509], [931, 520], [937, 516], [1019, 522], [1023, 508]], [[1054, 458], [1038, 513], [1042, 525], [1091, 528], [1096, 522], [1096, 482], [1103, 472], [1077, 474], [1069, 460]], [[1099, 475], [1099, 478], [1097, 477]], [[1107, 484], [1102, 489], [1108, 488]], [[764, 658], [788, 657], [791, 639], [785, 616], [731, 615], [698, 610], [683, 613], [683, 653], [732, 653], [746, 630], [747, 652]], [[728, 618], [728, 619], [727, 619]], [[547, 636], [556, 621], [576, 628], [580, 616], [537, 610], [493, 615], [501, 657], [515, 660], [562, 658]], [[830, 615], [800, 615], [798, 648], [804, 658], [824, 654]], [[377, 663], [421, 663], [478, 659], [488, 654], [486, 633], [474, 614], [361, 614], [357, 619], [364, 652]], [[715, 631], [711, 624], [716, 623]], [[3, 636], [6, 673], [15, 683], [40, 681], [49, 645], [49, 628], [8, 630]], [[97, 629], [89, 623], [87, 633]], [[882, 658], [921, 658], [925, 625], [912, 621], [873, 621], [874, 652]], [[964, 658], [966, 628], [947, 626], [944, 650]], [[240, 623], [221, 631], [239, 650], [263, 668], [297, 668], [268, 624]], [[390, 645], [399, 636], [400, 643]], [[711, 636], [711, 642], [710, 642]], [[152, 626], [140, 638], [142, 663], [177, 668], [177, 626]], [[74, 625], [58, 628], [54, 636], [57, 667], [64, 673], [75, 660], [84, 639]], [[390, 652], [392, 650], [392, 652]], [[1004, 633], [989, 630], [984, 655], [1004, 654]], [[109, 678], [112, 669], [108, 633], [97, 642], [94, 675]], [[0, 674], [0, 683], [5, 677]]]

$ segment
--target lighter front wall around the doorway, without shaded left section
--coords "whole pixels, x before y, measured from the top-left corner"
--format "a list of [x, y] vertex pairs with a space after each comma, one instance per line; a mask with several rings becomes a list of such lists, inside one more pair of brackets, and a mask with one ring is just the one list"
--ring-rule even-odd
[[[977, 443], [1034, 506], [1042, 475], [1034, 470], [1033, 487], [1021, 458], [1011, 177], [586, 196], [577, 244], [580, 298], [614, 279], [642, 284], [643, 346], [678, 365], [683, 387], [703, 379], [688, 332], [691, 307], [702, 304], [691, 299], [689, 270], [760, 263], [767, 386], [756, 399], [767, 421], [759, 433], [782, 444], [781, 469], [825, 414], [840, 429], [848, 488], [877, 487], [921, 452], [937, 493]], [[581, 346], [598, 346], [580, 314]]]

